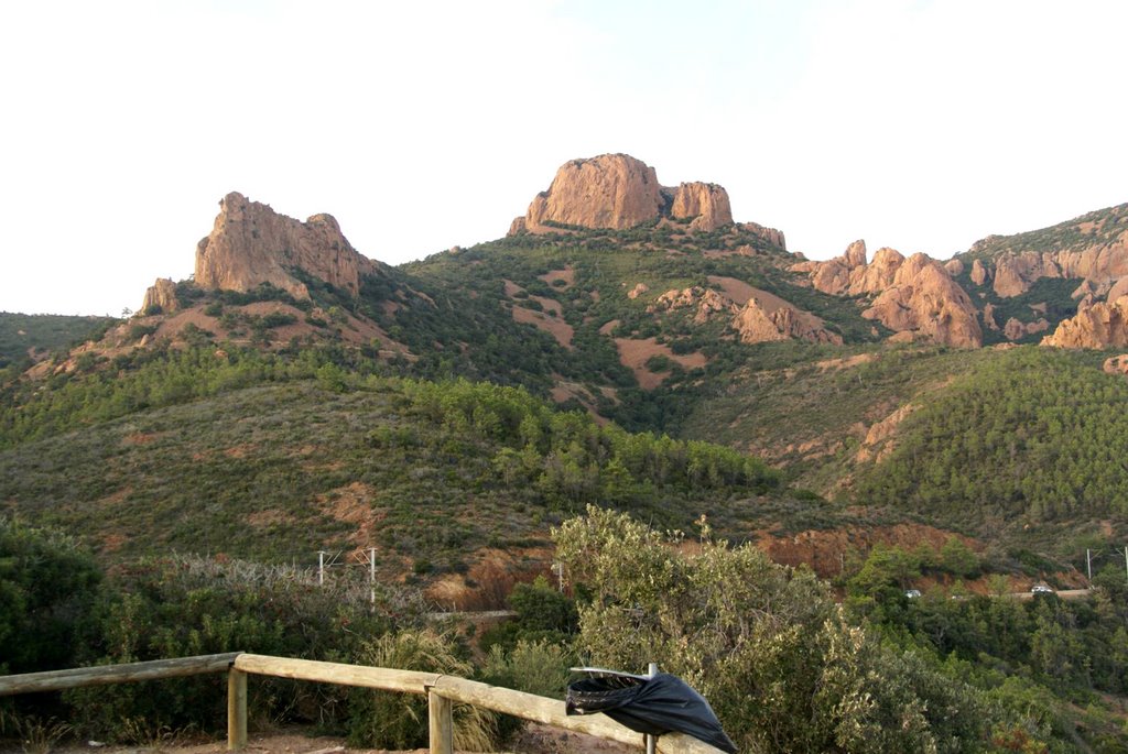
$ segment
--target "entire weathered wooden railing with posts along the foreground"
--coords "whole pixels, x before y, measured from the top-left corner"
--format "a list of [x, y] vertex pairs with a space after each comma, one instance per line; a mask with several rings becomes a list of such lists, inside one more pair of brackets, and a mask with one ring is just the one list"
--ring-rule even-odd
[[[238, 751], [247, 745], [248, 675], [270, 675], [280, 678], [424, 694], [428, 698], [432, 754], [453, 753], [455, 728], [451, 717], [453, 702], [473, 704], [525, 720], [543, 722], [564, 730], [583, 733], [640, 748], [643, 746], [642, 734], [635, 733], [603, 715], [569, 717], [564, 713], [564, 702], [556, 699], [491, 686], [486, 683], [467, 681], [453, 675], [321, 663], [311, 659], [290, 659], [248, 653], [202, 655], [126, 665], [103, 665], [68, 671], [5, 675], [0, 676], [0, 697], [109, 683], [174, 678], [222, 671], [227, 671], [228, 674], [227, 747], [229, 751]], [[681, 734], [661, 736], [658, 739], [658, 751], [666, 754], [717, 754], [720, 752], [704, 742]]]

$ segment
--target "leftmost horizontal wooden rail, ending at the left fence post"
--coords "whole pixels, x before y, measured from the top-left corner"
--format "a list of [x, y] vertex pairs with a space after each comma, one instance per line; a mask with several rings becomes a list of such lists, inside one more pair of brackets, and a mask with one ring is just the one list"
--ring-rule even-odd
[[235, 658], [239, 654], [237, 651], [229, 651], [222, 655], [199, 655], [196, 657], [177, 657], [175, 659], [153, 659], [146, 663], [126, 663], [124, 665], [96, 665], [94, 667], [76, 667], [68, 671], [0, 675], [0, 697], [27, 694], [36, 691], [61, 691], [63, 689], [97, 686], [108, 683], [177, 678], [185, 675], [200, 675], [202, 673], [219, 673], [231, 667], [231, 663], [235, 662]]

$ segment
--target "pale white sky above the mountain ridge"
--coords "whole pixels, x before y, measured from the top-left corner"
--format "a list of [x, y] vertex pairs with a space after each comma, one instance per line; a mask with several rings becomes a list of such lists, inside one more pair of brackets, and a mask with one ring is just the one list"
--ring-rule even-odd
[[219, 199], [388, 264], [567, 160], [729, 190], [810, 258], [1128, 202], [1122, 0], [0, 0], [0, 311], [122, 314]]

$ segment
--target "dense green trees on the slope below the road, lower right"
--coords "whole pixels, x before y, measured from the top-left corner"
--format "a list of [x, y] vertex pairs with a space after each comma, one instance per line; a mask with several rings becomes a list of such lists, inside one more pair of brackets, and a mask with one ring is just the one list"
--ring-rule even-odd
[[[973, 566], [958, 552], [942, 552], [941, 561], [952, 555], [955, 564]], [[848, 579], [846, 604], [891, 646], [935, 663], [942, 658], [938, 666], [946, 674], [981, 689], [996, 704], [1021, 710], [1023, 736], [1037, 731], [1049, 751], [1075, 751], [1069, 744], [1079, 751], [1123, 751], [1128, 734], [1113, 701], [1128, 694], [1122, 568], [1099, 575], [1092, 598], [1074, 602], [1052, 594], [1022, 602], [1006, 594], [1005, 579], [990, 596], [953, 600], [925, 589], [910, 598], [904, 587], [920, 569], [916, 551], [876, 548]], [[1019, 738], [1012, 733], [1004, 739]]]

